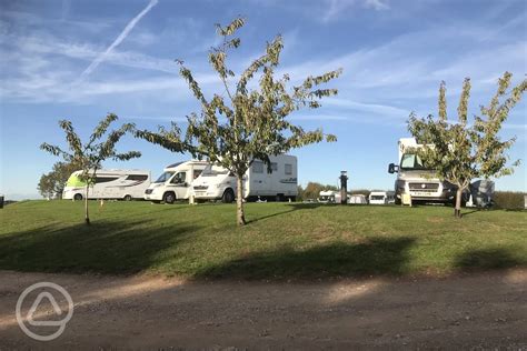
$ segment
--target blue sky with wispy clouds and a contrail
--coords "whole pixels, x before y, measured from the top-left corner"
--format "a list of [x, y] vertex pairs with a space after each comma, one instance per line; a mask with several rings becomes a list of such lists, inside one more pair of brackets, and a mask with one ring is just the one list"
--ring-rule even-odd
[[[0, 2], [0, 193], [36, 198], [40, 176], [56, 159], [43, 141], [64, 144], [59, 119], [88, 137], [108, 112], [120, 122], [156, 129], [182, 122], [197, 110], [173, 59], [185, 60], [203, 90], [221, 89], [207, 51], [217, 43], [213, 23], [247, 18], [242, 46], [229, 62], [235, 71], [261, 54], [267, 40], [285, 38], [281, 72], [292, 81], [344, 68], [336, 98], [291, 118], [338, 137], [295, 150], [299, 181], [337, 183], [348, 170], [350, 188], [390, 189], [387, 164], [397, 161], [397, 140], [407, 137], [410, 111], [436, 113], [439, 82], [447, 82], [450, 117], [470, 77], [470, 110], [487, 103], [504, 71], [525, 77], [525, 1], [148, 1], [48, 0]], [[501, 136], [517, 136], [511, 159], [526, 159], [527, 111], [523, 101]], [[187, 159], [127, 137], [119, 150], [140, 150], [129, 162], [107, 168], [149, 169]], [[497, 180], [499, 190], [527, 191], [526, 167]]]

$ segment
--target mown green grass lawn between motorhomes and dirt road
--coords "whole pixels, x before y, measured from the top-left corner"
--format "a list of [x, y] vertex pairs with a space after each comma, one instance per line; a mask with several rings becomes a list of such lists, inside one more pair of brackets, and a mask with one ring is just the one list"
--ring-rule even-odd
[[27, 201], [0, 210], [0, 269], [314, 279], [527, 267], [527, 212], [451, 208]]

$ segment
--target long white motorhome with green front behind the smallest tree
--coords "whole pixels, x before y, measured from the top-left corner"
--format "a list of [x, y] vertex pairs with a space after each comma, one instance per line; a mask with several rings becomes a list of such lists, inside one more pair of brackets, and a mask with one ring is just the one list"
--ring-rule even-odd
[[[82, 171], [74, 171], [68, 179], [62, 199], [82, 200], [86, 197], [86, 182]], [[88, 191], [88, 199], [142, 199], [145, 189], [150, 185], [150, 171], [143, 170], [99, 170]]]

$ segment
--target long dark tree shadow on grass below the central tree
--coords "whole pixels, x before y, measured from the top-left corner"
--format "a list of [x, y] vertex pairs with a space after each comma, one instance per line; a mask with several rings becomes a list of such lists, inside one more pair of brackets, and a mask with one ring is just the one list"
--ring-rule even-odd
[[362, 243], [334, 243], [306, 250], [291, 248], [233, 259], [193, 278], [324, 279], [407, 273], [411, 238], [374, 238]]

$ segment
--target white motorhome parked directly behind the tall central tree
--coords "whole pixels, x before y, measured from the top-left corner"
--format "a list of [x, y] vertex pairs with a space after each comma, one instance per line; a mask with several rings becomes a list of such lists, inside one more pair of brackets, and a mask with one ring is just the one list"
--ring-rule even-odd
[[[243, 176], [243, 199], [295, 200], [298, 194], [297, 158], [288, 154], [271, 156], [271, 172], [255, 160]], [[236, 177], [225, 168], [209, 164], [192, 182], [196, 200], [232, 202], [236, 199]]]

